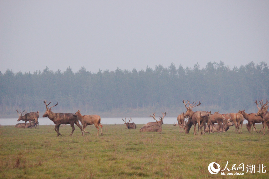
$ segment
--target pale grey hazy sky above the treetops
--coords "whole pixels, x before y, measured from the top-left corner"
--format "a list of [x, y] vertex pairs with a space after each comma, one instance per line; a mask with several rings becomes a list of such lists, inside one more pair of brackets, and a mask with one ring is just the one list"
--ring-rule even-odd
[[269, 63], [269, 1], [0, 0], [0, 71]]

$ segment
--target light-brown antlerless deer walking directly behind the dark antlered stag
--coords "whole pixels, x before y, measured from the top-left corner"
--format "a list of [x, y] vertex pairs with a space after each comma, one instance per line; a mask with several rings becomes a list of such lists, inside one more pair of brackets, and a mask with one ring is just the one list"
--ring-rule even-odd
[[103, 126], [101, 125], [101, 117], [100, 116], [98, 116], [96, 114], [82, 116], [80, 114], [80, 110], [78, 110], [76, 112], [76, 115], [78, 115], [79, 121], [81, 122], [81, 124], [83, 126], [82, 129], [84, 132], [89, 134], [89, 132], [85, 131], [85, 129], [88, 125], [94, 124], [94, 126], [96, 127], [96, 129], [98, 131], [96, 136], [99, 135], [99, 127], [101, 127], [101, 136], [103, 136]]

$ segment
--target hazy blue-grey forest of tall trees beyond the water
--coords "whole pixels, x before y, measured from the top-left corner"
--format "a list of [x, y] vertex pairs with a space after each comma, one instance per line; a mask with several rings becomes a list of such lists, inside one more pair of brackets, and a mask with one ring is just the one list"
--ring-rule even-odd
[[266, 62], [233, 68], [222, 61], [208, 62], [205, 68], [198, 63], [186, 68], [171, 63], [140, 71], [117, 68], [89, 72], [81, 67], [73, 72], [68, 67], [61, 72], [45, 67], [33, 73], [14, 73], [7, 69], [0, 72], [0, 117], [16, 117], [17, 109], [43, 112], [44, 100], [52, 105], [58, 102], [55, 112], [80, 109], [84, 114], [99, 112], [111, 117], [132, 111], [137, 112], [133, 117], [141, 117], [153, 110], [177, 116], [185, 111], [183, 100], [200, 101], [199, 109], [207, 111], [246, 109], [250, 113], [257, 111], [255, 100], [269, 100], [268, 82]]

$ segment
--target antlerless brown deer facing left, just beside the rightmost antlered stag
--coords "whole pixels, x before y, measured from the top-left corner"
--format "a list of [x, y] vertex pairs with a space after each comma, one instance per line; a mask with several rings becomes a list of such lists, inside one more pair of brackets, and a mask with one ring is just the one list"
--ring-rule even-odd
[[[263, 118], [261, 116], [255, 116], [256, 115], [255, 113], [247, 114], [245, 112], [245, 109], [242, 110], [242, 111], [238, 111], [238, 113], [242, 114], [243, 117], [248, 121], [248, 123], [247, 123], [248, 124], [247, 125], [247, 129], [248, 129], [249, 133], [251, 132], [250, 129], [251, 129], [252, 124], [253, 124], [253, 127], [254, 127], [254, 129], [255, 129], [256, 132], [258, 132], [258, 131], [256, 129], [255, 123], [262, 123], [262, 126], [263, 127], [265, 125], [264, 122], [263, 122]], [[260, 132], [261, 132], [261, 130], [260, 130]]]

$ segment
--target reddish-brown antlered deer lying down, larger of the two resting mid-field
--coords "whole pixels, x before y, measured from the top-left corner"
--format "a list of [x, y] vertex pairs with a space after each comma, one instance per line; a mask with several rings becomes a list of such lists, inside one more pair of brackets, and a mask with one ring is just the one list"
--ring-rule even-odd
[[139, 130], [140, 132], [162, 132], [162, 124], [163, 124], [163, 119], [164, 117], [166, 116], [166, 112], [162, 112], [163, 114], [163, 117], [160, 116], [160, 120], [158, 121], [156, 118], [155, 118], [155, 112], [152, 113], [152, 115], [150, 115], [150, 117], [153, 117], [153, 119], [156, 121], [156, 122], [148, 122], [146, 123], [144, 126], [141, 127], [141, 129]]

